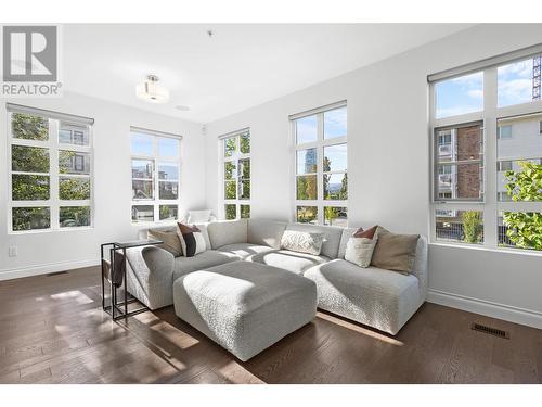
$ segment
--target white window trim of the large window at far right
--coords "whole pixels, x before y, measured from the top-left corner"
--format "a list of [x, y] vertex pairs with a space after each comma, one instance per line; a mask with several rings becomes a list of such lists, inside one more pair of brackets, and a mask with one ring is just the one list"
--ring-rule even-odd
[[[499, 65], [483, 66], [483, 111], [468, 113], [459, 116], [436, 118], [435, 85], [438, 81], [450, 79], [451, 76], [438, 76], [438, 80], [429, 82], [429, 145], [430, 145], [430, 216], [429, 216], [429, 237], [431, 243], [439, 245], [454, 245], [464, 247], [478, 247], [491, 251], [503, 251], [514, 253], [530, 253], [542, 255], [542, 253], [532, 250], [514, 249], [508, 246], [499, 246], [498, 218], [501, 212], [542, 212], [542, 202], [500, 202], [498, 201], [498, 171], [496, 171], [496, 149], [498, 149], [498, 119], [511, 116], [521, 116], [542, 112], [542, 101], [515, 104], [504, 107], [498, 107], [498, 67], [507, 63], [533, 56], [521, 55], [521, 58], [511, 59], [508, 61], [499, 59]], [[453, 76], [459, 76], [455, 73]], [[429, 80], [431, 77], [428, 78]], [[467, 201], [437, 201], [435, 199], [435, 129], [463, 125], [482, 120], [483, 129], [483, 200], [480, 202]], [[462, 242], [443, 242], [436, 238], [436, 209], [454, 211], [481, 211], [483, 212], [483, 242], [480, 244], [468, 244]]]

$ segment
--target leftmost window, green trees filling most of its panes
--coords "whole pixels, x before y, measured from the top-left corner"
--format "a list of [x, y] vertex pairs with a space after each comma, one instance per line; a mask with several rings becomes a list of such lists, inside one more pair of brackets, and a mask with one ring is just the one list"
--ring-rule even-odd
[[7, 104], [10, 232], [92, 225], [90, 118]]

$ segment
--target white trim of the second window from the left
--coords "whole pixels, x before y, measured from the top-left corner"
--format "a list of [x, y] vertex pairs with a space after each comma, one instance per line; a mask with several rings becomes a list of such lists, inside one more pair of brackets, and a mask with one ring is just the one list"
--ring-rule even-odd
[[[145, 154], [132, 154], [131, 153], [131, 136], [132, 132], [137, 132], [140, 135], [145, 135], [151, 137], [153, 140], [153, 154], [152, 155], [145, 155]], [[130, 127], [130, 221], [133, 226], [141, 226], [141, 225], [172, 225], [176, 224], [177, 220], [160, 220], [160, 205], [177, 205], [177, 217], [179, 218], [179, 215], [181, 213], [181, 190], [182, 190], [182, 161], [181, 161], [181, 151], [182, 151], [182, 136], [177, 136], [172, 135], [169, 132], [163, 132], [163, 131], [156, 131], [156, 130], [150, 130], [150, 129], [144, 129], [140, 127]], [[179, 148], [178, 148], [178, 156], [177, 157], [166, 157], [166, 156], [159, 156], [158, 155], [158, 140], [159, 139], [175, 139], [179, 141]], [[144, 200], [144, 199], [134, 199], [133, 198], [133, 190], [132, 190], [132, 161], [133, 160], [143, 160], [143, 161], [152, 161], [153, 162], [153, 175], [152, 175], [152, 181], [153, 181], [153, 196], [154, 199], [152, 200]], [[158, 179], [158, 164], [175, 164], [178, 168], [178, 174], [177, 174], [177, 191], [178, 191], [178, 196], [177, 200], [160, 200], [159, 199], [159, 182], [160, 180]], [[138, 178], [137, 178], [138, 179]], [[133, 220], [132, 219], [132, 207], [133, 206], [153, 206], [153, 220]]]

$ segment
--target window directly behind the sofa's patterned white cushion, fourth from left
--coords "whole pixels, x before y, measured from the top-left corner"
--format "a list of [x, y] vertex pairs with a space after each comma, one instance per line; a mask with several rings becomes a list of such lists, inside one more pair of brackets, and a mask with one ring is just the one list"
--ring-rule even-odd
[[346, 103], [291, 117], [295, 141], [295, 216], [304, 224], [346, 226]]

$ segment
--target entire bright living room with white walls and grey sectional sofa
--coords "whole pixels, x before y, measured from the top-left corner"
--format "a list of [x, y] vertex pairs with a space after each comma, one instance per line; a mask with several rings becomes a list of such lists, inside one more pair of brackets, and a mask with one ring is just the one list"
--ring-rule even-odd
[[0, 383], [542, 382], [541, 23], [12, 14]]

